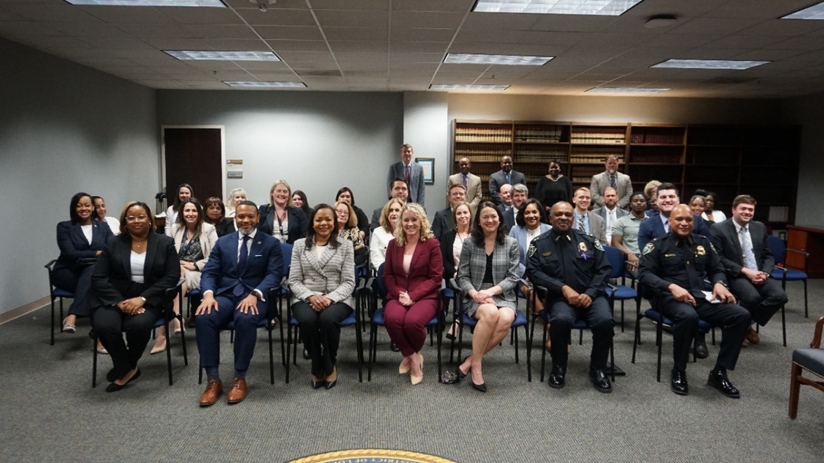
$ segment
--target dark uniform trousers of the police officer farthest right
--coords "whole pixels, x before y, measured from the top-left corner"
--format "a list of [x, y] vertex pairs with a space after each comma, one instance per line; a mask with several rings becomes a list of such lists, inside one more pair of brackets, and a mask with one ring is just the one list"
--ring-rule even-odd
[[675, 367], [686, 372], [686, 362], [690, 358], [690, 348], [695, 332], [698, 331], [698, 319], [710, 325], [721, 327], [721, 350], [717, 364], [719, 367], [734, 370], [741, 352], [741, 343], [750, 327], [750, 313], [735, 304], [712, 304], [703, 298], [695, 298], [693, 307], [686, 302], [678, 302], [672, 295], [659, 298], [663, 314], [672, 320], [672, 359]]

